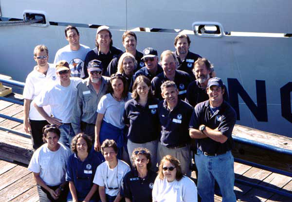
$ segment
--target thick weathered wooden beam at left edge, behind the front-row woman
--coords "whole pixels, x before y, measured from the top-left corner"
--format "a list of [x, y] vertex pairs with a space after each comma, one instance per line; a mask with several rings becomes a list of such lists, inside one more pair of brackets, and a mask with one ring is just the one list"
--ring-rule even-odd
[[29, 164], [33, 155], [29, 138], [0, 131], [0, 159], [11, 159]]

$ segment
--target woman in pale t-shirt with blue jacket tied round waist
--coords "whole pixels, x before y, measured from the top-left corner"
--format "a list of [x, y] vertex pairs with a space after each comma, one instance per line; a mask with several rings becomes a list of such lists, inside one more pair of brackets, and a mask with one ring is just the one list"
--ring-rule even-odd
[[100, 151], [100, 143], [105, 139], [113, 139], [119, 148], [118, 158], [121, 158], [125, 127], [122, 117], [125, 102], [130, 98], [131, 93], [128, 93], [126, 78], [121, 74], [112, 74], [108, 83], [108, 93], [100, 99], [96, 110], [94, 141], [96, 151]]

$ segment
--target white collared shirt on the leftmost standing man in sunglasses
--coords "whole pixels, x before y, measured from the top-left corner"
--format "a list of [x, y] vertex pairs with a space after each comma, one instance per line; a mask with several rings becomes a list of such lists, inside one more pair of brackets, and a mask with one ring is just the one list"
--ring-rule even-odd
[[[28, 100], [34, 100], [48, 85], [56, 83], [58, 80], [56, 76], [56, 69], [53, 64], [49, 64], [47, 74], [40, 73], [36, 68], [27, 75], [24, 89], [23, 89], [23, 98]], [[45, 112], [48, 115], [51, 115], [51, 107], [45, 106]], [[44, 118], [37, 112], [37, 109], [34, 107], [33, 102], [30, 104], [29, 109], [29, 119], [31, 120], [44, 120]]]

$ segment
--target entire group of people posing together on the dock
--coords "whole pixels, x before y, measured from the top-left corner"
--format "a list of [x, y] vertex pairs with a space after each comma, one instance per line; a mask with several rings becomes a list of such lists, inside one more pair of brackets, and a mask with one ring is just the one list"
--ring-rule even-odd
[[178, 34], [160, 61], [153, 48], [136, 50], [131, 31], [122, 36], [125, 52], [107, 26], [93, 50], [74, 26], [65, 37], [54, 65], [46, 46], [35, 47], [23, 91], [40, 201], [196, 202], [198, 189], [212, 202], [215, 182], [223, 201], [236, 201], [236, 113], [210, 61], [189, 51], [189, 36]]

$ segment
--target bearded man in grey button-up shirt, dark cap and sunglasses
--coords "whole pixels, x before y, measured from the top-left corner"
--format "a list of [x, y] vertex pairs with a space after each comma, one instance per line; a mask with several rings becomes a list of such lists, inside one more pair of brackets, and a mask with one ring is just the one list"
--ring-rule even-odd
[[84, 132], [94, 139], [94, 126], [97, 117], [97, 105], [107, 90], [108, 78], [101, 76], [102, 63], [99, 60], [91, 60], [88, 63], [89, 78], [77, 85], [77, 96], [74, 100], [74, 108], [71, 124], [75, 134]]

